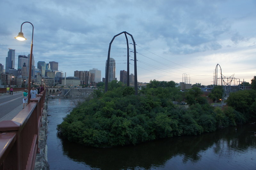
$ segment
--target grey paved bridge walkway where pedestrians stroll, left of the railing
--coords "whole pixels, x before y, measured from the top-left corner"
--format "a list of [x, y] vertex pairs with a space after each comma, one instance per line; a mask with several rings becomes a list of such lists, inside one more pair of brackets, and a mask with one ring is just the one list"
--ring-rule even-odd
[[0, 96], [0, 121], [12, 120], [22, 108], [22, 92]]

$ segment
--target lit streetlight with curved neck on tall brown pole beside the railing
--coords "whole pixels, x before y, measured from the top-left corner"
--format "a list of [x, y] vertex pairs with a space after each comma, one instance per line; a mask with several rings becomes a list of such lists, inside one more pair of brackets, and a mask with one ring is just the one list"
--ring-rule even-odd
[[22, 25], [24, 23], [29, 23], [32, 25], [32, 41], [31, 41], [31, 48], [30, 48], [30, 58], [29, 58], [29, 71], [28, 71], [28, 104], [30, 103], [30, 90], [31, 90], [31, 67], [32, 67], [32, 56], [33, 56], [33, 35], [34, 35], [34, 26], [31, 22], [23, 22], [20, 26], [20, 32], [17, 37], [14, 37], [17, 40], [24, 41], [27, 40], [23, 33], [22, 33]]

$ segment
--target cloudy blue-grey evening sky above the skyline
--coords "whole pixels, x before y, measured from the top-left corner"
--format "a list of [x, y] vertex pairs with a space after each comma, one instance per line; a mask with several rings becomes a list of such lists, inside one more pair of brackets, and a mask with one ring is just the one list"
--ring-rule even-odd
[[[219, 64], [223, 76], [234, 74], [234, 80], [251, 83], [256, 75], [255, 9], [255, 0], [1, 0], [0, 63], [5, 68], [8, 48], [15, 49], [16, 69], [18, 55], [30, 53], [30, 24], [22, 27], [28, 40], [14, 39], [29, 21], [35, 63], [59, 62], [67, 76], [98, 68], [105, 77], [109, 43], [127, 31], [136, 42], [140, 82], [181, 82], [186, 73], [192, 84], [213, 84]], [[122, 34], [110, 54], [117, 80], [120, 70], [127, 70], [126, 55]], [[133, 64], [130, 60], [130, 73]]]

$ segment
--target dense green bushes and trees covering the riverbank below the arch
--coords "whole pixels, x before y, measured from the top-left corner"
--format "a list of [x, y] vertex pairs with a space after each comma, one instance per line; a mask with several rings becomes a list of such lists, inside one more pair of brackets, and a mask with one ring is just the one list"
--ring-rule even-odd
[[[214, 90], [213, 90], [214, 91]], [[217, 128], [256, 119], [256, 91], [230, 94], [228, 106], [212, 107], [199, 88], [181, 92], [174, 81], [150, 81], [134, 95], [134, 88], [109, 83], [109, 91], [95, 90], [58, 125], [70, 142], [93, 147], [142, 143], [180, 135], [200, 135]], [[186, 101], [189, 107], [172, 101]]]

